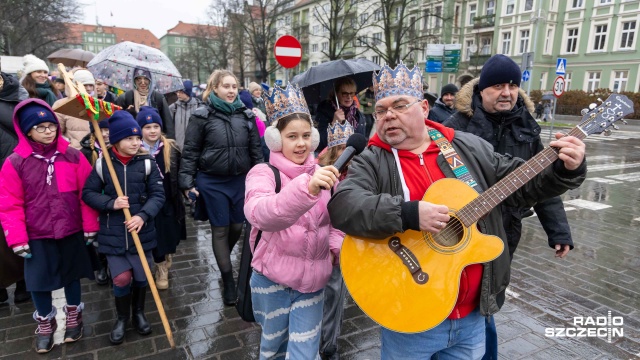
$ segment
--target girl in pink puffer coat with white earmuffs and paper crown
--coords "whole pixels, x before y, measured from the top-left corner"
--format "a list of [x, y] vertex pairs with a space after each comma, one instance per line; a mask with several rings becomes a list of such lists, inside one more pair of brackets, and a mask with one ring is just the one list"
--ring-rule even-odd
[[315, 359], [323, 289], [344, 237], [331, 226], [327, 211], [339, 173], [315, 162], [319, 135], [299, 89], [275, 87], [265, 102], [274, 120], [265, 141], [281, 191], [275, 192], [272, 169], [256, 165], [247, 175], [244, 206], [253, 226], [250, 283], [254, 316], [262, 326], [260, 358]]

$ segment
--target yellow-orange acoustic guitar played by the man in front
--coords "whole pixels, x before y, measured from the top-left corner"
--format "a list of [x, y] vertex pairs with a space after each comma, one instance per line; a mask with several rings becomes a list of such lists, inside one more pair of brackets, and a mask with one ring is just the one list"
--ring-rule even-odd
[[[610, 132], [609, 126], [631, 113], [633, 103], [612, 94], [583, 110], [582, 122], [568, 135], [583, 139]], [[457, 179], [433, 183], [423, 200], [447, 205], [451, 216], [438, 234], [409, 230], [382, 240], [347, 235], [340, 266], [356, 304], [396, 332], [422, 332], [444, 321], [457, 301], [462, 270], [497, 258], [504, 248], [497, 236], [480, 233], [477, 221], [551, 165], [557, 151], [545, 148], [482, 194]]]

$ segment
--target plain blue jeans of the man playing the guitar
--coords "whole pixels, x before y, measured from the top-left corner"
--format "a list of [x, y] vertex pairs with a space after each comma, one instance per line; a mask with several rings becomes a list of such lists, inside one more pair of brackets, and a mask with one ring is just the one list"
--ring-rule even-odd
[[[416, 334], [382, 329], [382, 360], [471, 360], [485, 351], [485, 319], [478, 309]], [[432, 357], [433, 356], [433, 357]]]

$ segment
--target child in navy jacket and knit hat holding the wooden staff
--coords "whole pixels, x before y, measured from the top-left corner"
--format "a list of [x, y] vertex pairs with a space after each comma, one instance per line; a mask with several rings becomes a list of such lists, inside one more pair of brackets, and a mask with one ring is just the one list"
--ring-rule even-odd
[[[116, 303], [117, 319], [109, 335], [114, 345], [124, 341], [131, 317], [138, 334], [151, 333], [144, 314], [148, 282], [129, 233], [138, 233], [146, 260], [149, 265], [153, 264], [151, 251], [157, 245], [154, 218], [162, 209], [165, 197], [158, 166], [147, 151], [141, 149], [141, 134], [140, 126], [129, 112], [115, 111], [109, 118], [112, 147], [107, 154], [124, 196], [116, 193], [104, 156], [96, 162], [82, 191], [82, 199], [100, 211], [98, 252], [107, 256]], [[128, 221], [125, 221], [124, 208], [132, 215]]]

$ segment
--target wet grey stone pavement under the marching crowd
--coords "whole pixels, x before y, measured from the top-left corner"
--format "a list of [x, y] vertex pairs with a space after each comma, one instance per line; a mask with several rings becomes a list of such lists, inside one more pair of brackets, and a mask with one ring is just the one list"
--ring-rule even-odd
[[[554, 258], [535, 216], [524, 220], [507, 301], [496, 315], [501, 359], [640, 358], [640, 132], [621, 130], [586, 140], [588, 179], [563, 196], [576, 245], [566, 259]], [[10, 289], [9, 304], [0, 305], [0, 359], [257, 359], [260, 328], [222, 303], [209, 226], [190, 221], [188, 233], [174, 257], [170, 289], [160, 291], [175, 350], [151, 294], [153, 334], [143, 337], [129, 327], [122, 345], [110, 345], [110, 289], [84, 281], [84, 337], [46, 355], [33, 351], [32, 303], [14, 305]], [[236, 270], [239, 254], [236, 248]], [[379, 359], [379, 327], [350, 299], [345, 306], [341, 358]], [[603, 337], [545, 336], [581, 327]]]

